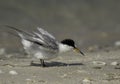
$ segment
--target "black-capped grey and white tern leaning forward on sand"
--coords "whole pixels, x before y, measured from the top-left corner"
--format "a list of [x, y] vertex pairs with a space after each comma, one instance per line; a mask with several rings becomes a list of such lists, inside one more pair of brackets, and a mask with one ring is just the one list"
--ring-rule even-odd
[[72, 39], [64, 39], [59, 42], [52, 34], [40, 27], [37, 27], [36, 32], [30, 33], [13, 26], [5, 26], [17, 32], [26, 53], [39, 59], [42, 67], [46, 67], [45, 60], [53, 59], [59, 54], [71, 50], [75, 50], [84, 56], [84, 53], [77, 48]]

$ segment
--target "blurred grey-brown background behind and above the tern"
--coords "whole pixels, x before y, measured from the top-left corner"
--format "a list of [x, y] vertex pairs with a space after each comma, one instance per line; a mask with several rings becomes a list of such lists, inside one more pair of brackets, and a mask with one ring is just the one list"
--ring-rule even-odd
[[[0, 0], [0, 24], [26, 31], [39, 26], [58, 41], [74, 39], [83, 51], [120, 45], [120, 1]], [[20, 39], [8, 31], [14, 32], [0, 27], [0, 47], [19, 51]]]

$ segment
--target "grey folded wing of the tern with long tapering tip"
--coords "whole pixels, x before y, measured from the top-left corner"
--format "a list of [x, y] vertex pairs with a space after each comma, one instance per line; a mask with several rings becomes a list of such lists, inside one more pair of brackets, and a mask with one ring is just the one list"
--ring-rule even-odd
[[8, 25], [6, 25], [6, 27], [16, 30], [18, 35], [22, 39], [25, 39], [27, 41], [37, 44], [38, 46], [42, 46], [50, 50], [58, 50], [58, 42], [55, 40], [55, 37], [47, 31], [43, 30], [42, 28], [38, 28], [38, 32], [28, 33]]

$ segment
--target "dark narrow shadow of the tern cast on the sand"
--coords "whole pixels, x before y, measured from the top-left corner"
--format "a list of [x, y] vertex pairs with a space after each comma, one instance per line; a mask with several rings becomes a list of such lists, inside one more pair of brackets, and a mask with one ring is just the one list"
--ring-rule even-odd
[[[62, 66], [80, 66], [83, 63], [63, 63], [63, 62], [45, 62], [46, 67], [62, 67]], [[31, 63], [30, 66], [42, 66], [40, 63]]]

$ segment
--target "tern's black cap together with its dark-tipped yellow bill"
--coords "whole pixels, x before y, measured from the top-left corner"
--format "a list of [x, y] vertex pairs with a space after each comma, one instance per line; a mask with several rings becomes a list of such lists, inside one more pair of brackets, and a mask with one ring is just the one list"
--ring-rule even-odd
[[77, 48], [75, 42], [72, 39], [64, 39], [61, 41], [61, 43], [72, 48], [74, 51], [81, 53], [84, 56], [84, 53], [79, 48]]

